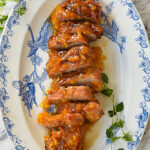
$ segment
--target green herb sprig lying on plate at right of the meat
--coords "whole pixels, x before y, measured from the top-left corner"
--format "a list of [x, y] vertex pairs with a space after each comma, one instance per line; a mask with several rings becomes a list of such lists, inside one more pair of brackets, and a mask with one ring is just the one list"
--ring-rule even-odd
[[[131, 142], [133, 141], [132, 135], [129, 132], [125, 132], [123, 129], [124, 126], [124, 121], [119, 119], [118, 113], [122, 112], [124, 110], [124, 104], [123, 102], [120, 102], [115, 106], [115, 100], [114, 100], [114, 94], [113, 90], [107, 87], [107, 84], [109, 82], [108, 76], [103, 73], [102, 74], [102, 79], [104, 81], [104, 87], [103, 90], [101, 91], [102, 94], [111, 97], [112, 99], [112, 104], [113, 104], [113, 110], [108, 111], [109, 116], [112, 118], [112, 125], [106, 130], [106, 135], [111, 141], [111, 150], [112, 150], [112, 143], [119, 139], [123, 139], [126, 142]], [[115, 116], [115, 118], [114, 118]], [[115, 121], [114, 121], [115, 119]], [[122, 131], [122, 136], [117, 137], [114, 135], [114, 129], [120, 128]], [[124, 150], [123, 148], [119, 148], [118, 150]]]

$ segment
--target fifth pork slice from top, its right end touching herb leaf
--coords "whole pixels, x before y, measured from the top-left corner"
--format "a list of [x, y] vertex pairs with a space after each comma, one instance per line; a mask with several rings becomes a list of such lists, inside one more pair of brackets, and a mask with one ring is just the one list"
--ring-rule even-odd
[[89, 86], [94, 92], [100, 92], [103, 87], [101, 71], [98, 68], [85, 69], [80, 72], [71, 72], [58, 78], [60, 86]]

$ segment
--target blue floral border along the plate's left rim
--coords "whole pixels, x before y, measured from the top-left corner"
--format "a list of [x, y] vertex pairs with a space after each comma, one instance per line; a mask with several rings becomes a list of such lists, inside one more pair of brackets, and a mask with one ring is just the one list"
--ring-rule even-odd
[[[18, 4], [14, 7], [14, 10], [25, 7], [26, 2], [24, 0], [19, 0]], [[19, 22], [19, 14], [17, 12], [13, 12], [12, 16], [8, 19], [7, 23], [7, 34], [2, 35], [2, 41], [0, 44], [0, 108], [2, 110], [2, 113], [4, 115], [3, 121], [5, 124], [5, 128], [7, 131], [7, 134], [9, 135], [10, 139], [13, 141], [15, 145], [16, 150], [29, 150], [26, 147], [22, 146], [23, 141], [19, 139], [15, 134], [13, 134], [12, 129], [14, 127], [14, 123], [6, 117], [7, 113], [9, 113], [9, 110], [7, 107], [5, 107], [5, 102], [9, 100], [9, 96], [6, 90], [7, 87], [7, 80], [6, 75], [9, 73], [9, 70], [6, 66], [6, 62], [8, 61], [6, 51], [11, 48], [11, 45], [9, 43], [9, 38], [13, 36], [13, 26], [20, 24]]]

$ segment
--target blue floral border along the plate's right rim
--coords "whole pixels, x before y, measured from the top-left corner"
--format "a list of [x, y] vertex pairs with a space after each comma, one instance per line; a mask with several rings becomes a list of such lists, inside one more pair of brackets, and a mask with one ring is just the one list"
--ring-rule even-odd
[[136, 140], [134, 140], [133, 142], [128, 142], [128, 149], [133, 150], [137, 148], [138, 144], [140, 143], [140, 139], [143, 135], [143, 130], [145, 129], [146, 122], [148, 121], [148, 109], [147, 109], [146, 102], [150, 102], [150, 87], [149, 87], [150, 59], [145, 56], [144, 49], [148, 47], [148, 42], [147, 42], [145, 30], [143, 29], [143, 26], [139, 21], [139, 16], [137, 11], [135, 10], [133, 3], [130, 0], [119, 0], [119, 1], [121, 4], [123, 4], [123, 6], [128, 7], [127, 15], [130, 16], [130, 18], [133, 21], [135, 21], [135, 25], [133, 28], [136, 31], [139, 31], [138, 37], [135, 38], [135, 41], [138, 42], [138, 44], [141, 47], [141, 50], [138, 53], [139, 57], [142, 58], [139, 68], [141, 68], [142, 71], [146, 74], [146, 76], [143, 77], [143, 80], [147, 84], [147, 86], [141, 90], [141, 92], [143, 93], [144, 101], [140, 102], [139, 107], [142, 109], [142, 112], [139, 115], [135, 116], [138, 123], [138, 130], [135, 131]]

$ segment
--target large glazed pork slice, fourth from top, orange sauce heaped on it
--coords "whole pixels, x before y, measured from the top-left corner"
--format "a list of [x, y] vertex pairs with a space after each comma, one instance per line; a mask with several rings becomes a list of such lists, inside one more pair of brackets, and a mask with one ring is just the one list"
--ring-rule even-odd
[[49, 77], [58, 77], [63, 73], [95, 66], [95, 55], [86, 46], [73, 47], [69, 51], [50, 53], [46, 70]]

